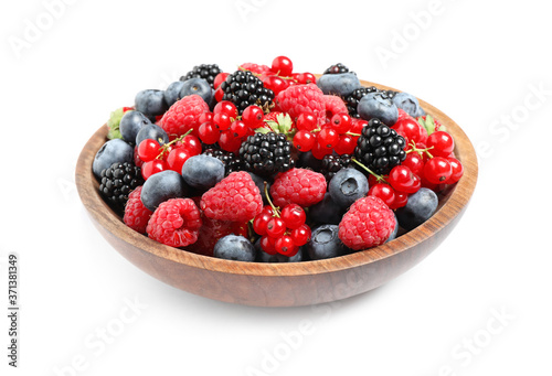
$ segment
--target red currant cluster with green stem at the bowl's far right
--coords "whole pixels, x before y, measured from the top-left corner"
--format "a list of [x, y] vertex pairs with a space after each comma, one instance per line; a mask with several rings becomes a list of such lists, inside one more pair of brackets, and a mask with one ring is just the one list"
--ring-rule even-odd
[[376, 175], [362, 165], [370, 172], [369, 195], [380, 197], [394, 210], [406, 205], [408, 195], [421, 187], [438, 192], [444, 184], [460, 180], [464, 168], [454, 157], [454, 140], [449, 133], [438, 130], [427, 136], [425, 128], [411, 118], [397, 121], [392, 128], [407, 141], [406, 159], [386, 176]]

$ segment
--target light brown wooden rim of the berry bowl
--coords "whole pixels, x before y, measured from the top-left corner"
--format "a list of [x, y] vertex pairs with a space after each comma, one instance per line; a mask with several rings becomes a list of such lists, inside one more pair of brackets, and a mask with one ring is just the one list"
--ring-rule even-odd
[[[400, 92], [367, 80], [361, 80], [361, 84], [362, 86], [375, 86], [380, 89]], [[100, 127], [83, 148], [75, 169], [75, 183], [81, 201], [88, 214], [99, 225], [114, 236], [134, 247], [177, 264], [222, 273], [264, 277], [320, 275], [361, 267], [401, 254], [414, 245], [431, 238], [434, 234], [445, 228], [464, 211], [475, 190], [478, 175], [478, 163], [474, 146], [468, 137], [464, 130], [443, 111], [422, 99], [418, 99], [418, 101], [427, 114], [437, 118], [447, 128], [447, 131], [453, 135], [456, 158], [461, 161], [464, 166], [463, 178], [456, 183], [456, 186], [453, 187], [443, 206], [424, 224], [399, 236], [392, 241], [340, 257], [282, 264], [224, 260], [211, 256], [193, 254], [180, 248], [173, 248], [135, 232], [125, 225], [121, 218], [104, 202], [97, 190], [98, 182], [92, 172], [94, 157], [102, 144], [107, 141], [107, 125]]]

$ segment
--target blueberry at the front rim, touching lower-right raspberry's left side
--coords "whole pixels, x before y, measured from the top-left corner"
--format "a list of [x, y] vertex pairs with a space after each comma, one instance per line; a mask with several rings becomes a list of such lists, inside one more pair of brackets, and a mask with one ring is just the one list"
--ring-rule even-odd
[[347, 247], [338, 237], [339, 226], [321, 225], [312, 230], [307, 253], [311, 260], [342, 256], [347, 253]]

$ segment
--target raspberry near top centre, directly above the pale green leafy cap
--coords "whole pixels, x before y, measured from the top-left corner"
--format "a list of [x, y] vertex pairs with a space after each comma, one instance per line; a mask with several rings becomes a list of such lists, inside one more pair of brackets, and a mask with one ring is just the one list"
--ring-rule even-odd
[[326, 103], [323, 93], [315, 84], [293, 85], [276, 96], [277, 107], [288, 112], [297, 121], [301, 114], [311, 114], [319, 125], [326, 122]]

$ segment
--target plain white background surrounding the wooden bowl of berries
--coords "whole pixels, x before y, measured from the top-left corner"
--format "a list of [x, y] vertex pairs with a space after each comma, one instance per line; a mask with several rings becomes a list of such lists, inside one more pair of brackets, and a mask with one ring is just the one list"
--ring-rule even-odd
[[[552, 23], [542, 1], [443, 0], [437, 12], [429, 0], [66, 0], [49, 11], [53, 2], [0, 6], [2, 375], [551, 374]], [[296, 72], [342, 62], [458, 122], [486, 149], [463, 221], [411, 271], [318, 309], [211, 301], [135, 268], [79, 202], [73, 174], [87, 139], [137, 92], [197, 64], [232, 71], [282, 54]], [[20, 257], [18, 369], [7, 365], [9, 253]], [[121, 312], [132, 320], [117, 326]], [[282, 334], [301, 323], [311, 330], [286, 354]], [[121, 333], [100, 342], [105, 327]], [[274, 352], [279, 364], [266, 361]]]

